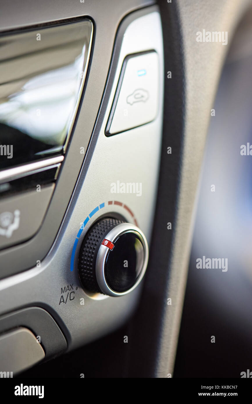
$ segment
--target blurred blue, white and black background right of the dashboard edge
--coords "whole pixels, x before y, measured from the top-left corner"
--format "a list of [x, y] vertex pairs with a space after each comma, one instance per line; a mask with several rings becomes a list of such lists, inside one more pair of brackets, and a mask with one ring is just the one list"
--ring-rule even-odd
[[[210, 118], [174, 377], [252, 371], [252, 155], [241, 155], [252, 145], [251, 76], [252, 9], [237, 27]], [[203, 256], [227, 258], [228, 270], [197, 269]]]

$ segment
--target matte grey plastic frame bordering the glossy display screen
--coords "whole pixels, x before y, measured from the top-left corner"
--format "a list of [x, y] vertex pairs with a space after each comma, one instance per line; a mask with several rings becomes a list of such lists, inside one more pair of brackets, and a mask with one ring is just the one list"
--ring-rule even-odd
[[[94, 21], [84, 96], [48, 212], [36, 236], [0, 252], [1, 278], [8, 276], [10, 272], [15, 274], [33, 267], [37, 260], [41, 261], [45, 257], [52, 246], [82, 166], [84, 155], [80, 154], [80, 148], [84, 147], [85, 152], [88, 148], [103, 97], [118, 25], [126, 14], [151, 4], [151, 0], [92, 0], [83, 3], [67, 0], [26, 0], [22, 3], [18, 0], [0, 1], [0, 35], [23, 27], [44, 26], [52, 21], [67, 23], [73, 21], [73, 18], [85, 17]], [[91, 142], [89, 153], [92, 153], [95, 141], [96, 139]], [[88, 161], [89, 156], [84, 157]]]

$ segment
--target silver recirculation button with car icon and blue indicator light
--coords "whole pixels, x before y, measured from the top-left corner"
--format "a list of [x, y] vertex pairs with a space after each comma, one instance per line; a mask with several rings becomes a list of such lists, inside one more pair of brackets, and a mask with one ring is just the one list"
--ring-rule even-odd
[[115, 135], [151, 122], [157, 116], [159, 63], [154, 51], [124, 59], [106, 135]]

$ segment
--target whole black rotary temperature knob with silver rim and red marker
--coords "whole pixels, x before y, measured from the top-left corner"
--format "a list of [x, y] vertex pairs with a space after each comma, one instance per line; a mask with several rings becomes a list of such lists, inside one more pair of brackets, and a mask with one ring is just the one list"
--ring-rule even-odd
[[100, 219], [80, 248], [80, 280], [90, 292], [125, 295], [143, 278], [148, 256], [147, 240], [137, 226], [112, 217]]

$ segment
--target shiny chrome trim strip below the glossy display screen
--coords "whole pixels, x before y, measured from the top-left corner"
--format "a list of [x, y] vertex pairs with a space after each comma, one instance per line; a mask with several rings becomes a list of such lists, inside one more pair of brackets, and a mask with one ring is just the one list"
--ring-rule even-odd
[[34, 163], [24, 164], [23, 166], [8, 168], [7, 170], [0, 171], [0, 181], [9, 181], [13, 179], [13, 177], [17, 177], [23, 173], [29, 173], [30, 171], [38, 170], [39, 168], [52, 166], [53, 164], [61, 163], [63, 160], [64, 156], [57, 156], [36, 161]]

